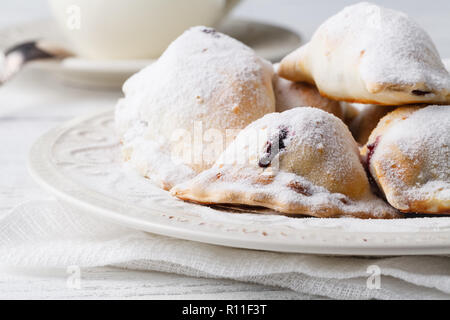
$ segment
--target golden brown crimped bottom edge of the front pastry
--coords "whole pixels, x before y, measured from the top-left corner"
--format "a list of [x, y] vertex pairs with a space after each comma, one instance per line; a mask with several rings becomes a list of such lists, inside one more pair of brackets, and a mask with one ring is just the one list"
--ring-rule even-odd
[[[233, 185], [233, 181], [230, 181], [230, 177], [232, 178], [231, 180], [234, 180], [235, 177], [232, 177], [233, 174], [236, 174], [236, 172], [242, 173], [245, 169], [232, 168], [231, 171], [234, 173], [228, 170], [229, 169], [222, 171], [223, 173], [221, 175], [204, 172], [193, 179], [189, 185], [179, 185], [174, 187], [171, 190], [171, 193], [181, 200], [197, 204], [257, 206], [294, 216], [306, 215], [318, 218], [356, 217], [362, 219], [395, 219], [402, 217], [401, 214], [398, 214], [395, 210], [391, 210], [387, 206], [385, 207], [385, 210], [380, 210], [378, 207], [376, 213], [370, 208], [355, 209], [355, 202], [344, 196], [339, 198], [338, 203], [330, 201], [315, 206], [311, 206], [303, 201], [282, 200], [284, 197], [280, 196], [280, 194], [289, 190], [305, 197], [314, 197], [314, 194], [310, 193], [308, 186], [302, 185], [299, 188], [299, 182], [297, 180], [291, 180], [284, 185], [276, 184], [275, 187], [279, 191], [277, 193], [267, 192], [265, 189], [267, 183], [261, 184], [257, 182], [253, 182], [246, 187], [244, 192], [242, 189]], [[226, 185], [227, 183], [228, 186]], [[225, 187], [223, 187], [223, 185], [225, 185]], [[209, 187], [205, 188], [205, 186]], [[219, 189], [216, 188], [216, 186], [221, 187]], [[370, 200], [368, 199], [367, 201]]]

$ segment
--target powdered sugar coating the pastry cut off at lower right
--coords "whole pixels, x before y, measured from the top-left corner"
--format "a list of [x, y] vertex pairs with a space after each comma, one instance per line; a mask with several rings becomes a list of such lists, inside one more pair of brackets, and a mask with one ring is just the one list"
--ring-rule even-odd
[[[383, 149], [384, 145], [396, 146], [415, 173], [398, 168], [396, 160], [385, 154], [390, 149]], [[378, 149], [377, 158], [387, 159], [384, 167], [390, 183], [408, 201], [450, 201], [450, 106], [429, 106], [398, 121], [381, 137]], [[413, 175], [414, 184], [405, 181], [405, 175]]]

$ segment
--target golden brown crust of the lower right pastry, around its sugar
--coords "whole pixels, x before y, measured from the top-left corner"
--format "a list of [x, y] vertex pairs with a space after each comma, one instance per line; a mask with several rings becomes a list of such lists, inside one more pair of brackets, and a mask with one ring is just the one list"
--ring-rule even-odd
[[[418, 106], [401, 107], [387, 114], [373, 130], [361, 154], [368, 162], [372, 177], [392, 206], [404, 213], [449, 214], [450, 199], [437, 195], [442, 190], [421, 189], [432, 182], [436, 175], [435, 172], [427, 171], [430, 170], [429, 156], [433, 154], [434, 146], [424, 145], [423, 152], [412, 157], [403, 151], [404, 147], [400, 148], [395, 139], [386, 139], [388, 135], [392, 138], [390, 130], [421, 109]], [[447, 165], [445, 161], [448, 162], [448, 159], [439, 160], [443, 161], [443, 166]]]

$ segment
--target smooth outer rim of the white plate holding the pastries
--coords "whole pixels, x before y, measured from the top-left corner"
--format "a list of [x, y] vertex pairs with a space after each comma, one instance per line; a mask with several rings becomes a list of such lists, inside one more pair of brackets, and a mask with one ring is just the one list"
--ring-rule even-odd
[[[32, 146], [28, 167], [35, 181], [50, 191], [63, 204], [88, 214], [94, 214], [130, 228], [155, 234], [244, 249], [276, 252], [296, 252], [328, 255], [447, 255], [450, 254], [450, 229], [439, 231], [402, 232], [349, 232], [330, 228], [311, 227], [295, 230], [287, 236], [272, 232], [270, 228], [242, 232], [242, 225], [214, 220], [201, 222], [189, 216], [186, 210], [173, 215], [164, 208], [139, 207], [86, 188], [66, 176], [53, 163], [54, 147], [65, 133], [77, 126], [101, 117], [111, 117], [111, 111], [95, 112], [76, 118], [41, 136]], [[198, 205], [192, 205], [193, 210]], [[178, 210], [178, 209], [177, 209]], [[143, 220], [131, 216], [139, 212], [148, 216]], [[184, 215], [186, 214], [186, 215]], [[151, 219], [150, 219], [151, 218]], [[189, 219], [195, 222], [191, 222]], [[196, 220], [197, 219], [197, 220]], [[295, 219], [295, 218], [291, 218]], [[316, 219], [317, 218], [313, 218]], [[441, 218], [429, 218], [441, 219]], [[237, 229], [239, 230], [237, 230]], [[251, 228], [250, 228], [251, 229]], [[277, 228], [275, 228], [277, 231]], [[282, 234], [283, 232], [281, 232]]]

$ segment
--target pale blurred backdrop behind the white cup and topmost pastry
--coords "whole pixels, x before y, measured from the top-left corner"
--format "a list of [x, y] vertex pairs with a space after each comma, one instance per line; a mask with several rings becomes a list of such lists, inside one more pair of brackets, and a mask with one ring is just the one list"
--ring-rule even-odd
[[[232, 12], [233, 17], [287, 26], [309, 38], [315, 28], [330, 15], [355, 0], [243, 0]], [[401, 10], [419, 21], [429, 31], [442, 57], [450, 57], [450, 1], [448, 0], [374, 0]], [[46, 0], [0, 0], [0, 27], [50, 16]], [[442, 32], [435, 32], [442, 30]]]

